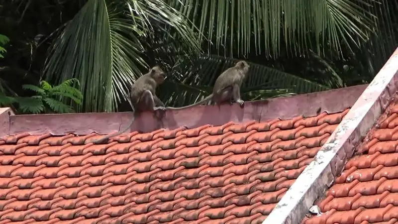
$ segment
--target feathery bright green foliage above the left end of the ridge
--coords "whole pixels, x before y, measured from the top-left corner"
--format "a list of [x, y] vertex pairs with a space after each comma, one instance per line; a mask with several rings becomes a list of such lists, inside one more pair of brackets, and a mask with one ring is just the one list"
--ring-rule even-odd
[[83, 100], [82, 93], [73, 87], [73, 84], [79, 85], [79, 80], [69, 79], [58, 86], [51, 86], [46, 81], [40, 82], [40, 87], [34, 85], [23, 85], [24, 90], [35, 93], [32, 97], [7, 97], [0, 95], [0, 106], [10, 106], [13, 103], [18, 104], [18, 112], [21, 113], [68, 113], [74, 110], [62, 103], [63, 98], [72, 100], [75, 104], [81, 105]]

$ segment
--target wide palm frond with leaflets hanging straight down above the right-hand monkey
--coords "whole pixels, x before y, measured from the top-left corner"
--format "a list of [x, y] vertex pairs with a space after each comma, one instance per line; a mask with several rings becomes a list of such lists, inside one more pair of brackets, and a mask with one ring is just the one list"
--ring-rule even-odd
[[[358, 44], [374, 27], [369, 10], [376, 0], [168, 0], [192, 19], [217, 50], [232, 56], [256, 53], [277, 57], [286, 44], [294, 54], [312, 44], [318, 52], [330, 45]], [[285, 42], [285, 43], [284, 43]], [[329, 46], [328, 46], [329, 47]]]

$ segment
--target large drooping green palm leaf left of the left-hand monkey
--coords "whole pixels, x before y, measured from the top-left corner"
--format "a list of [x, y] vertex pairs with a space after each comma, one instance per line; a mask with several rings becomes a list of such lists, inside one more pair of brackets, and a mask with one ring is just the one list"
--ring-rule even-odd
[[198, 46], [190, 25], [161, 0], [88, 0], [54, 42], [43, 71], [46, 80], [78, 79], [85, 96], [79, 111], [117, 110], [140, 67], [147, 67], [142, 39], [151, 24], [171, 25]]

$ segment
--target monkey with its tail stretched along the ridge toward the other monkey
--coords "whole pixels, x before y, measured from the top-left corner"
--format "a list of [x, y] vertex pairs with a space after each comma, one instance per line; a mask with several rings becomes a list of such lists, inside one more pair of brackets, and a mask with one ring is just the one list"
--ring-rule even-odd
[[170, 110], [187, 109], [201, 104], [205, 104], [212, 100], [218, 108], [221, 103], [229, 104], [238, 103], [241, 108], [244, 107], [244, 101], [240, 98], [240, 87], [249, 72], [249, 64], [246, 61], [238, 61], [234, 67], [228, 68], [215, 80], [213, 93], [199, 101], [198, 103], [181, 107], [172, 108]]

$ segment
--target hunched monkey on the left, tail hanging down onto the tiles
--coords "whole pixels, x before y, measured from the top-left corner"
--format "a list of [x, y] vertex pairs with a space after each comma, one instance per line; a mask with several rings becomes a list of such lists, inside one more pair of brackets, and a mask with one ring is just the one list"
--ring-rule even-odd
[[156, 87], [164, 82], [164, 72], [159, 66], [155, 66], [145, 75], [139, 77], [131, 87], [130, 104], [133, 108], [133, 117], [130, 124], [123, 131], [105, 136], [94, 141], [95, 144], [107, 142], [109, 138], [125, 132], [133, 124], [140, 112], [157, 110], [165, 111], [165, 105], [156, 96]]

